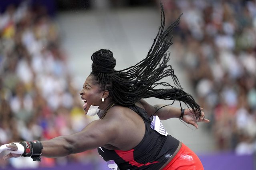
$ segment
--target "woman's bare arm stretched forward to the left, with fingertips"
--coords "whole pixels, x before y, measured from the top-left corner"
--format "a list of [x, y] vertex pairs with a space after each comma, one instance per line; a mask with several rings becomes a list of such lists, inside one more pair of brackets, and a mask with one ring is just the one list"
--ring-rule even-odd
[[[118, 128], [115, 121], [96, 120], [90, 123], [80, 132], [67, 136], [58, 136], [50, 140], [41, 141], [43, 149], [42, 156], [61, 157], [69, 154], [83, 152], [85, 150], [98, 148], [115, 140]], [[17, 150], [15, 144], [6, 145], [8, 150]], [[6, 149], [7, 150], [7, 149]], [[3, 157], [8, 159], [18, 157], [21, 154], [10, 153]]]

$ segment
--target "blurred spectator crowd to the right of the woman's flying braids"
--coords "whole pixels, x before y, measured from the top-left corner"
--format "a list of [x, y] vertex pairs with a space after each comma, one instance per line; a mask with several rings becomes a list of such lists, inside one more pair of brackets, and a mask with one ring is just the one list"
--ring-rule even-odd
[[167, 22], [182, 12], [171, 53], [211, 120], [217, 148], [256, 151], [256, 1], [166, 0]]

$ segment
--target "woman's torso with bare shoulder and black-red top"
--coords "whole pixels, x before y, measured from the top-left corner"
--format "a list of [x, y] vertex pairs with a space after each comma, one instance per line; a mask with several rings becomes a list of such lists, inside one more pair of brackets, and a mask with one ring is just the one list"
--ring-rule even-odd
[[[143, 107], [140, 111], [143, 111]], [[135, 164], [137, 164], [138, 162], [139, 164], [141, 164], [142, 169], [143, 167], [145, 168], [145, 162], [143, 162], [141, 158], [146, 158], [146, 155], [156, 155], [156, 158], [151, 158], [151, 156], [146, 158], [146, 160], [149, 161], [146, 161], [146, 164], [150, 164], [150, 162], [152, 163], [152, 161], [157, 164], [158, 162], [161, 162], [159, 163], [159, 166], [157, 166], [156, 164], [150, 165], [157, 167], [157, 169], [161, 169], [163, 165], [167, 164], [171, 160], [171, 157], [163, 158], [164, 156], [159, 155], [164, 154], [162, 150], [169, 150], [168, 152], [171, 152], [173, 154], [173, 152], [178, 148], [178, 140], [174, 139], [172, 136], [166, 137], [166, 143], [164, 143], [164, 147], [166, 148], [159, 151], [159, 153], [161, 154], [156, 154], [153, 152], [153, 150], [157, 149], [162, 144], [159, 144], [159, 146], [154, 146], [156, 141], [153, 140], [157, 140], [160, 142], [160, 140], [162, 140], [162, 137], [161, 135], [159, 136], [159, 134], [157, 134], [155, 130], [152, 130], [150, 128], [150, 123], [145, 122], [139, 114], [137, 114], [135, 111], [131, 110], [128, 107], [115, 106], [111, 111], [111, 115], [115, 116], [115, 121], [120, 122], [120, 129], [117, 135], [118, 138], [111, 142], [111, 144], [106, 144], [98, 148], [99, 154], [103, 157], [107, 164], [113, 166], [112, 163], [114, 161], [114, 163], [119, 164], [119, 166], [132, 169], [131, 167], [127, 166], [125, 162], [123, 162], [123, 160], [125, 159], [128, 161], [130, 159], [129, 155], [131, 156], [131, 154], [132, 156], [134, 156], [132, 160], [135, 160], [136, 162], [133, 164], [133, 168], [136, 167]], [[155, 135], [157, 135], [158, 137]], [[124, 157], [120, 158], [122, 155]], [[129, 158], [126, 158], [127, 155]], [[128, 164], [131, 164], [131, 162], [129, 163], [128, 161]], [[136, 169], [140, 168], [137, 167]]]

